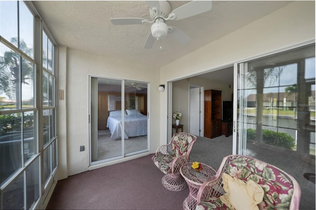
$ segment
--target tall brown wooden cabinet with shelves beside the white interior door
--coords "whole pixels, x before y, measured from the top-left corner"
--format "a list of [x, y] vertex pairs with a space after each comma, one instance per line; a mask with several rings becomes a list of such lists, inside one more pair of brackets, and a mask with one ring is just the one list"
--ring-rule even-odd
[[222, 135], [222, 91], [204, 91], [204, 137]]

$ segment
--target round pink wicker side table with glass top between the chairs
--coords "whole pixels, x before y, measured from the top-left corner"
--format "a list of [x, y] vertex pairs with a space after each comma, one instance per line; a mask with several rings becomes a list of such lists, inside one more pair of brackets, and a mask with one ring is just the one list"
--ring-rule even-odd
[[189, 185], [189, 196], [183, 201], [184, 210], [195, 210], [197, 206], [197, 191], [199, 187], [209, 178], [216, 175], [216, 171], [203, 163], [199, 163], [202, 166], [202, 170], [197, 172], [192, 168], [192, 162], [184, 164], [180, 173]]

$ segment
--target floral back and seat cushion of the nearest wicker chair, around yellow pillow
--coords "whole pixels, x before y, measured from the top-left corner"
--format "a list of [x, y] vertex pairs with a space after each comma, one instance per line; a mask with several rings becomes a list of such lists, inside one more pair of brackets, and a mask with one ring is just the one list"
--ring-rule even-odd
[[[257, 159], [237, 157], [229, 161], [229, 164], [225, 166], [227, 174], [244, 181], [253, 180], [263, 188], [263, 201], [258, 204], [260, 210], [289, 208], [294, 187], [285, 175]], [[219, 198], [210, 198], [197, 205], [197, 210], [203, 209], [229, 208]]]

